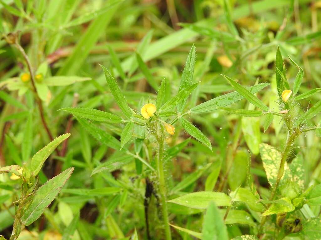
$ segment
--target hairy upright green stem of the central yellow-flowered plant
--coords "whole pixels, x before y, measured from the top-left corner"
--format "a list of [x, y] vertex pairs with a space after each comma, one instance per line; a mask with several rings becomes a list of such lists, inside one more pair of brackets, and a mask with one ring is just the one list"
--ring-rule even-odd
[[166, 202], [166, 183], [165, 183], [165, 174], [163, 168], [163, 148], [164, 148], [164, 139], [158, 138], [159, 152], [157, 158], [157, 172], [159, 180], [159, 190], [160, 190], [160, 202], [162, 206], [163, 221], [165, 228], [166, 240], [171, 240], [171, 233], [168, 221], [168, 211], [167, 211], [167, 202]]

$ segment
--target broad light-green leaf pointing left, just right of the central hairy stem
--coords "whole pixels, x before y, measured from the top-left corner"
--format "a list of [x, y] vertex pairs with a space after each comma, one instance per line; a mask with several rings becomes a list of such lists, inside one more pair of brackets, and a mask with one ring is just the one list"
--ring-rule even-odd
[[196, 209], [206, 209], [211, 202], [214, 202], [217, 206], [231, 206], [231, 198], [225, 193], [219, 192], [188, 193], [167, 202]]

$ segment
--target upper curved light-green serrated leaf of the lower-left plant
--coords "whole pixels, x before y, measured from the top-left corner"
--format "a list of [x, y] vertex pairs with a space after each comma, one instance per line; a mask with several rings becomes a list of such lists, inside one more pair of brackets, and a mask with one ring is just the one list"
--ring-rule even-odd
[[42, 165], [44, 164], [48, 156], [50, 156], [50, 154], [58, 147], [60, 143], [69, 138], [70, 135], [70, 133], [66, 133], [55, 138], [32, 157], [30, 172], [33, 176], [36, 176], [40, 172]]

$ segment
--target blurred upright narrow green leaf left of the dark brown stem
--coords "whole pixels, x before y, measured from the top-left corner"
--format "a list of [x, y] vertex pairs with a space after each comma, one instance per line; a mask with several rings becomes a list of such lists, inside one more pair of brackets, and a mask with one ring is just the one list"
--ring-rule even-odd
[[27, 123], [25, 125], [25, 129], [23, 131], [23, 139], [22, 139], [22, 161], [27, 163], [30, 158], [31, 150], [32, 150], [32, 116], [29, 114]]

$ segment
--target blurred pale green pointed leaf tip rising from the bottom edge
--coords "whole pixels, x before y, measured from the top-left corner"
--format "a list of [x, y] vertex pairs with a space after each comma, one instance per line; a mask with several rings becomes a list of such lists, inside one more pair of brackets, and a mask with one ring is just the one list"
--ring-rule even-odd
[[202, 240], [228, 240], [226, 226], [214, 202], [211, 202], [204, 216]]

